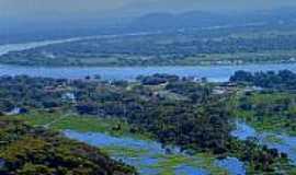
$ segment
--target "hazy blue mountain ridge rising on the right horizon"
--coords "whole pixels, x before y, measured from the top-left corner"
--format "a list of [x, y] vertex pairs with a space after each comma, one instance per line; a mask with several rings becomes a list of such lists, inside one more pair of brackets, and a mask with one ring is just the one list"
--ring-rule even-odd
[[249, 13], [209, 13], [191, 11], [181, 14], [151, 13], [134, 20], [135, 31], [177, 30], [187, 27], [242, 26], [248, 24], [285, 24], [296, 22], [296, 9], [277, 9]]

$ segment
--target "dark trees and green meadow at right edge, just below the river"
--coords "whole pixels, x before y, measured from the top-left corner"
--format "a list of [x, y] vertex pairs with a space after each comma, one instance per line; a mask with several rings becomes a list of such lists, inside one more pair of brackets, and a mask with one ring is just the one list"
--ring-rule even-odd
[[237, 71], [230, 81], [258, 86], [255, 93], [234, 95], [229, 101], [234, 115], [251, 121], [258, 129], [296, 133], [296, 73]]

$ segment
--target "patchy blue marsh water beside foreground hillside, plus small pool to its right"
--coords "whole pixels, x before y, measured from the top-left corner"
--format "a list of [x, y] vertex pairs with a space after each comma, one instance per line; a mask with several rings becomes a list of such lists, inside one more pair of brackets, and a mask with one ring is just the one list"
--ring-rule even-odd
[[[181, 153], [179, 149], [172, 149], [168, 154], [167, 150], [156, 141], [138, 140], [128, 137], [112, 137], [105, 133], [77, 132], [66, 130], [66, 137], [100, 147], [111, 151], [116, 160], [122, 160], [138, 168], [144, 175], [159, 175], [164, 173], [175, 175], [208, 175], [208, 171], [201, 167], [204, 158], [190, 156]], [[132, 150], [132, 151], [130, 151]], [[216, 160], [212, 166], [227, 170], [230, 175], [244, 175], [243, 163], [235, 158]]]

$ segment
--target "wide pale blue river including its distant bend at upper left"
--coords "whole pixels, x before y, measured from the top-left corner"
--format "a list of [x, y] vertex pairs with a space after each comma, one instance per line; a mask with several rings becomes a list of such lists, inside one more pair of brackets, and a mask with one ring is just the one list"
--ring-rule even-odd
[[[127, 35], [147, 35], [148, 33], [135, 33]], [[76, 37], [60, 40], [44, 40], [25, 44], [0, 45], [0, 56], [9, 51], [20, 51], [53, 44], [75, 42], [88, 38], [116, 37], [117, 35]], [[0, 65], [0, 75], [26, 74], [30, 77], [67, 78], [82, 79], [87, 75], [100, 74], [105, 80], [134, 80], [138, 75], [149, 75], [153, 73], [169, 73], [180, 77], [207, 78], [209, 81], [227, 81], [237, 70], [246, 71], [267, 71], [288, 69], [296, 72], [296, 63], [265, 63], [244, 66], [195, 66], [195, 67], [92, 67], [92, 68], [48, 68], [48, 67], [21, 67]]]

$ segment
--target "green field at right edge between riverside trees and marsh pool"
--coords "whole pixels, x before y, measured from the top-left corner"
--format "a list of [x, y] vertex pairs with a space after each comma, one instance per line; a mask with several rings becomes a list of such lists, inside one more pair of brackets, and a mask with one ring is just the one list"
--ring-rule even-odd
[[[237, 95], [229, 102], [231, 115], [246, 120], [260, 131], [286, 132], [296, 136], [296, 94], [254, 93], [251, 96]], [[251, 108], [239, 106], [248, 104]], [[286, 104], [286, 105], [283, 105]]]

